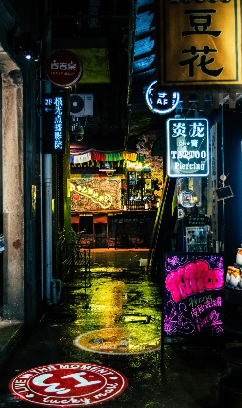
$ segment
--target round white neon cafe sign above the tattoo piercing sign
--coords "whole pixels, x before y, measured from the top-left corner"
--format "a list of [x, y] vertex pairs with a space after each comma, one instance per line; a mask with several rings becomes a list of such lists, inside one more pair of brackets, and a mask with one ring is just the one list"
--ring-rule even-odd
[[176, 109], [179, 100], [179, 92], [160, 91], [157, 81], [153, 81], [146, 90], [146, 104], [151, 112], [165, 115]]

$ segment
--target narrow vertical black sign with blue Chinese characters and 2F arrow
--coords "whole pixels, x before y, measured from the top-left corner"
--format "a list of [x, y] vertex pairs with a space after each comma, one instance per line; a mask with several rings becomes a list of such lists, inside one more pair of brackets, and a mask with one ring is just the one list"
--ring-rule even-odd
[[45, 153], [65, 153], [65, 94], [45, 94], [42, 106], [43, 148]]

